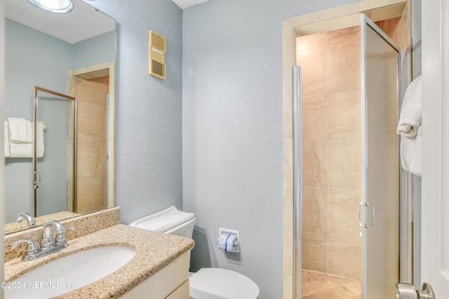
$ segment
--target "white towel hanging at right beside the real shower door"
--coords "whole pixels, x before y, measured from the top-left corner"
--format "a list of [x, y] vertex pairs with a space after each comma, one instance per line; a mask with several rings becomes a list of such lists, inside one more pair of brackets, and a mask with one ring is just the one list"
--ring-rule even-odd
[[408, 85], [396, 130], [401, 135], [401, 165], [422, 174], [422, 85], [421, 76]]

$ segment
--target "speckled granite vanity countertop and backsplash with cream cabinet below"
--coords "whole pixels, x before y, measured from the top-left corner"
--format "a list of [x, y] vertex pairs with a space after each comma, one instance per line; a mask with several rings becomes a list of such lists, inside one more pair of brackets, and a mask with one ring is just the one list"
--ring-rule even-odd
[[[192, 239], [119, 224], [119, 207], [61, 223], [76, 227], [75, 230], [67, 232], [69, 246], [35, 260], [21, 260], [25, 245], [16, 249], [10, 249], [10, 245], [25, 237], [39, 242], [42, 227], [5, 236], [6, 283], [74, 253], [105, 246], [125, 246], [133, 249], [135, 256], [119, 270], [54, 298], [189, 299], [188, 267], [189, 251], [194, 247]], [[61, 272], [65, 271], [69, 270], [61, 269]]]

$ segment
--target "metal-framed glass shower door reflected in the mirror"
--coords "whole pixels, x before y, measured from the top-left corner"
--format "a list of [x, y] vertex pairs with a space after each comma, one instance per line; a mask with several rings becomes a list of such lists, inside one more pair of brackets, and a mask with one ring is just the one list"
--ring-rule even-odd
[[[76, 99], [36, 86], [34, 216], [74, 211]], [[65, 199], [65, 200], [62, 200]]]

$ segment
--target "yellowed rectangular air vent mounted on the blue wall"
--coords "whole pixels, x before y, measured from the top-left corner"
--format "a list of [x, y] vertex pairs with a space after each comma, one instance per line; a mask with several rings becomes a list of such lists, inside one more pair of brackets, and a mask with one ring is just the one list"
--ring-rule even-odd
[[166, 78], [166, 39], [149, 31], [149, 74], [156, 78]]

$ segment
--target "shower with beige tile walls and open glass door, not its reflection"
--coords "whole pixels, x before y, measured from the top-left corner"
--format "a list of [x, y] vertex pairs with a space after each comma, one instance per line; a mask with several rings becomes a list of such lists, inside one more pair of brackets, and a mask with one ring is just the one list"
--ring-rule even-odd
[[400, 52], [361, 26], [301, 36], [293, 69], [293, 295], [302, 269], [394, 298], [399, 279]]

